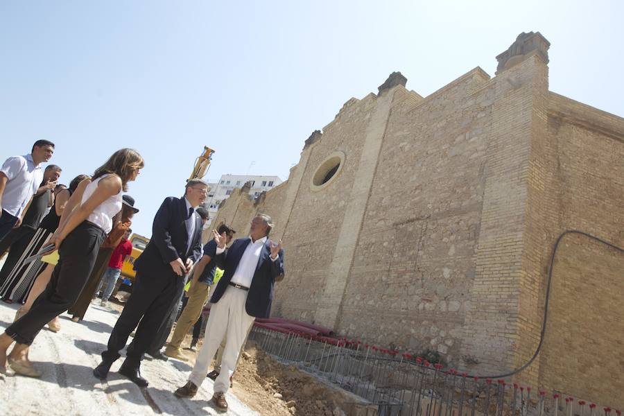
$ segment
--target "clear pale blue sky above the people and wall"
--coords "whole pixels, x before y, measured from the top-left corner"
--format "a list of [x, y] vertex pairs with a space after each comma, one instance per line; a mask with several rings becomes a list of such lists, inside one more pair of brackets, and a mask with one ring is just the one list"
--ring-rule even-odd
[[1, 1], [0, 159], [57, 145], [61, 182], [116, 149], [146, 159], [129, 193], [150, 236], [204, 145], [207, 177], [286, 180], [304, 140], [392, 71], [426, 96], [523, 31], [550, 42], [550, 88], [624, 115], [618, 1]]

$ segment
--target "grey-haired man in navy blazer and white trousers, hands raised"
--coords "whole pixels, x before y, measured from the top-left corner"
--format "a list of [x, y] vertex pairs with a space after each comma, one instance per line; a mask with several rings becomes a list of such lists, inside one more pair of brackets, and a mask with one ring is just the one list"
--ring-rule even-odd
[[[273, 227], [270, 216], [257, 214], [251, 222], [249, 237], [238, 239], [225, 252], [227, 236], [213, 230], [217, 243], [215, 261], [223, 269], [211, 297], [213, 303], [206, 324], [206, 338], [198, 354], [187, 384], [175, 390], [177, 397], [193, 397], [223, 337], [225, 351], [221, 371], [214, 381], [212, 401], [221, 410], [227, 409], [225, 392], [234, 372], [236, 358], [255, 318], [268, 318], [273, 298], [273, 284], [284, 279], [284, 250], [281, 240], [268, 239]], [[227, 335], [226, 335], [227, 333]]]

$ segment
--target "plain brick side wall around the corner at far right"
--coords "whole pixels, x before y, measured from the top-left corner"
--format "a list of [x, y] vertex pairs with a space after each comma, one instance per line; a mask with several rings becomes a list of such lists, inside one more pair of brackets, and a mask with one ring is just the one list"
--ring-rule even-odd
[[[546, 226], [535, 230], [536, 238], [546, 240], [543, 259], [535, 264], [535, 275], [544, 277], [540, 306], [553, 243], [562, 232], [587, 232], [624, 248], [621, 119], [551, 93], [546, 138], [553, 155], [545, 165], [541, 204]], [[622, 304], [624, 253], [587, 236], [565, 236], [553, 265], [539, 383], [623, 407]]]

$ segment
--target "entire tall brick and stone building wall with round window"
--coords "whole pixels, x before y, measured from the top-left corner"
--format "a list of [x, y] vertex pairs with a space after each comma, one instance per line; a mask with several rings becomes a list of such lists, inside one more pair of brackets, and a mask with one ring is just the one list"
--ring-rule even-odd
[[[520, 58], [425, 98], [403, 85], [352, 98], [306, 141], [286, 182], [224, 202], [216, 223], [238, 236], [257, 212], [275, 219], [286, 278], [274, 315], [433, 349], [481, 374], [528, 361], [557, 236], [575, 228], [624, 246], [624, 120], [549, 92], [545, 53]], [[313, 187], [337, 153], [339, 173]], [[572, 240], [557, 254], [541, 355], [519, 379], [614, 404], [624, 387], [606, 384], [609, 371], [624, 372], [623, 256]], [[588, 285], [592, 274], [600, 284]], [[598, 354], [610, 368], [590, 364]]]

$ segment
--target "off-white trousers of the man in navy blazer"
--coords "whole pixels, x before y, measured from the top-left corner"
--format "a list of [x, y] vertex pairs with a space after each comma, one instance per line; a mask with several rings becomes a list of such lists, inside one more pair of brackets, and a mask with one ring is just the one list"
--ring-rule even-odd
[[[223, 297], [213, 304], [208, 315], [204, 345], [197, 356], [189, 381], [202, 385], [208, 374], [212, 357], [225, 336], [225, 350], [219, 376], [214, 381], [215, 392], [227, 392], [229, 377], [234, 374], [236, 360], [255, 318], [245, 311], [247, 291], [227, 286]], [[227, 336], [226, 336], [227, 333]]]

